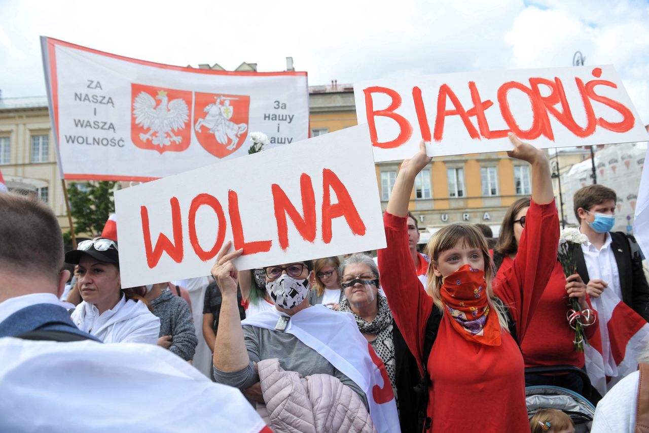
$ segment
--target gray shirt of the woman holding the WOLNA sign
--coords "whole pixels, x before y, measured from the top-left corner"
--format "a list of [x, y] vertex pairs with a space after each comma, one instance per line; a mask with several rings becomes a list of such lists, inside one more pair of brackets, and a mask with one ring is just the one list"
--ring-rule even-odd
[[[243, 340], [250, 358], [248, 367], [241, 371], [228, 373], [213, 366], [215, 382], [242, 390], [247, 389], [259, 382], [259, 374], [257, 374], [253, 362], [279, 358], [280, 365], [284, 370], [297, 371], [302, 376], [324, 373], [338, 378], [358, 394], [358, 397], [365, 403], [365, 408], [367, 408], [367, 397], [365, 397], [363, 390], [353, 380], [331, 365], [321, 354], [302, 343], [295, 335], [258, 328], [257, 326], [243, 325]], [[215, 348], [215, 350], [218, 350], [218, 348]]]

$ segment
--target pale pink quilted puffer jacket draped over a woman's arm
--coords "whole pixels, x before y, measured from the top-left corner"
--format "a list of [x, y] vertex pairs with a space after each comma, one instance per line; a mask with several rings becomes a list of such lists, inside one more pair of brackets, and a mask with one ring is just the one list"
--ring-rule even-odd
[[275, 432], [374, 432], [363, 400], [329, 374], [301, 377], [277, 358], [260, 361], [263, 400]]

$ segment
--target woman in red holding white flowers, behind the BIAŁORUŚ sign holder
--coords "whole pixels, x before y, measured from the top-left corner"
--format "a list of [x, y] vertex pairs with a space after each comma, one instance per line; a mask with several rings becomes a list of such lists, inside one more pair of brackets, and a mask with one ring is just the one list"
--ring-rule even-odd
[[[493, 251], [496, 267], [496, 280], [504, 278], [517, 260], [520, 237], [528, 222], [530, 199], [520, 198], [509, 206], [500, 226], [500, 235]], [[533, 215], [530, 215], [533, 218]], [[589, 304], [586, 285], [579, 274], [568, 278], [557, 260], [550, 281], [543, 290], [536, 311], [530, 321], [525, 337], [520, 341], [525, 368], [550, 367], [552, 365], [570, 365], [583, 369], [585, 360], [583, 352], [574, 348], [574, 330], [567, 321], [570, 309], [569, 298], [578, 298], [582, 310], [591, 311], [590, 323], [596, 320], [596, 313]], [[590, 338], [596, 326], [585, 326], [586, 337]], [[576, 373], [563, 374], [525, 374], [526, 386], [561, 386], [583, 394], [583, 380]]]

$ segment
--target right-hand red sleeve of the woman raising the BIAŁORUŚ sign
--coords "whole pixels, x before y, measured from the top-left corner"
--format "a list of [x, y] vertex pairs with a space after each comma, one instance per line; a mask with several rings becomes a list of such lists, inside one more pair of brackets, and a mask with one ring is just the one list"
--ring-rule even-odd
[[534, 309], [550, 280], [558, 248], [559, 217], [554, 200], [545, 205], [532, 201], [516, 259], [502, 278], [494, 282], [496, 296], [509, 307], [516, 322], [519, 341], [523, 341]]

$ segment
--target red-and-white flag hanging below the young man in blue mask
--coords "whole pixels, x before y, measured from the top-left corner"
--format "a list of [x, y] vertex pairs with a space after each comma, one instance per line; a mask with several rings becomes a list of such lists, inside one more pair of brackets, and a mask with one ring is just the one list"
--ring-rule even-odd
[[584, 349], [586, 371], [593, 387], [604, 395], [638, 368], [637, 358], [649, 347], [649, 324], [608, 289], [591, 298], [599, 332]]

